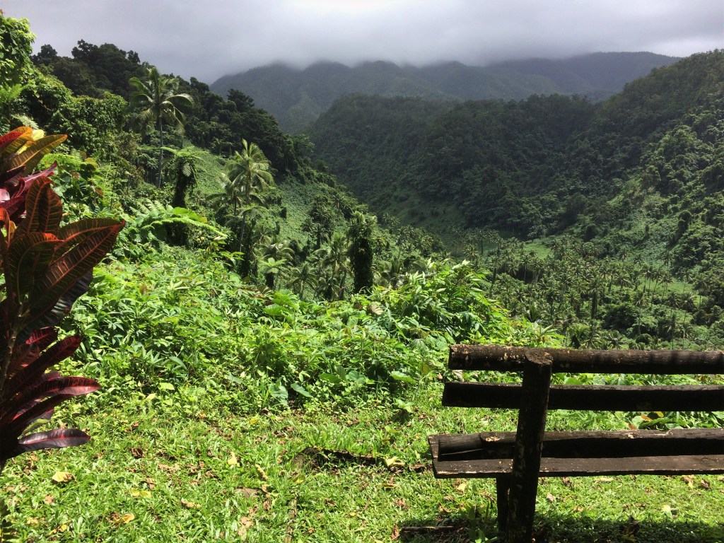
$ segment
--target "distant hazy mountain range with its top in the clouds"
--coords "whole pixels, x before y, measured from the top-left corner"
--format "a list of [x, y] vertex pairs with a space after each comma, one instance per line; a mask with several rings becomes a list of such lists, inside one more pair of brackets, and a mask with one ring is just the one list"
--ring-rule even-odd
[[216, 80], [211, 90], [237, 89], [279, 120], [289, 132], [311, 124], [345, 94], [426, 100], [521, 99], [532, 94], [580, 94], [605, 98], [653, 68], [675, 62], [652, 53], [597, 53], [570, 59], [503, 62], [488, 67], [447, 62], [426, 67], [366, 62], [348, 67], [332, 62], [296, 70], [281, 64], [254, 68]]

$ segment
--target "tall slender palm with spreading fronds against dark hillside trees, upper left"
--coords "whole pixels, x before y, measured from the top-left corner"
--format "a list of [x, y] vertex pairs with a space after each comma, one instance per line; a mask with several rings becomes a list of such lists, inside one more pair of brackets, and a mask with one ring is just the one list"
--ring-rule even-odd
[[134, 88], [129, 101], [129, 109], [135, 112], [131, 124], [142, 130], [153, 124], [159, 130], [160, 187], [161, 166], [164, 162], [164, 123], [183, 131], [184, 117], [179, 108], [193, 106], [193, 98], [185, 93], [176, 94], [177, 78], [159, 74], [156, 67], [148, 68], [148, 75], [143, 80], [131, 77], [128, 83]]

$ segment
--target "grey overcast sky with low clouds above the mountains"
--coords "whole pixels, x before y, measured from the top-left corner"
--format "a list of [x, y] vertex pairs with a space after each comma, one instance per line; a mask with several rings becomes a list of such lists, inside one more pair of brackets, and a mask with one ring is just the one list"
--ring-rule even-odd
[[722, 0], [3, 0], [70, 56], [78, 40], [138, 52], [213, 83], [252, 67], [319, 60], [485, 65], [532, 56], [724, 48]]

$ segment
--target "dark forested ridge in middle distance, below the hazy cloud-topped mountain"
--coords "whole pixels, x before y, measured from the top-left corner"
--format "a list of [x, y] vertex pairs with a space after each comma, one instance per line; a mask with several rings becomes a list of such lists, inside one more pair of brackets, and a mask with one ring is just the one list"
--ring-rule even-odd
[[626, 182], [654, 174], [652, 157], [682, 131], [710, 150], [696, 156], [683, 185], [658, 164], [662, 181], [654, 188], [670, 196], [691, 190], [692, 177], [709, 179], [707, 167], [720, 152], [711, 134], [719, 130], [722, 57], [699, 54], [654, 70], [602, 103], [532, 96], [446, 105], [347, 96], [310, 134], [332, 172], [379, 212], [406, 209], [423, 224], [445, 213], [464, 227], [536, 237], [600, 214]]

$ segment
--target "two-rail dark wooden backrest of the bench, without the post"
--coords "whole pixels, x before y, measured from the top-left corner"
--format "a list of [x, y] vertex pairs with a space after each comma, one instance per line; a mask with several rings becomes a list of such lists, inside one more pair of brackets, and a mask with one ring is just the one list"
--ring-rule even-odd
[[[522, 371], [526, 355], [550, 356], [552, 373], [724, 374], [722, 351], [570, 350], [452, 345], [449, 367], [466, 371]], [[521, 384], [448, 382], [442, 405], [521, 406]], [[724, 386], [552, 385], [549, 409], [585, 411], [724, 411]]]

